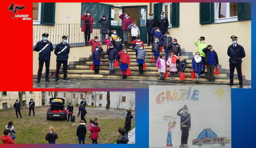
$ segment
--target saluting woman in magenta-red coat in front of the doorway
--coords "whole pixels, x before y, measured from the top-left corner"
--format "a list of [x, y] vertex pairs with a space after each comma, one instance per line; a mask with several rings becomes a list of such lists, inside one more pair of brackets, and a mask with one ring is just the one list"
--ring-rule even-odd
[[122, 30], [124, 34], [124, 43], [127, 43], [128, 40], [128, 26], [132, 24], [132, 19], [129, 17], [128, 13], [122, 13], [119, 18], [123, 21], [122, 23]]

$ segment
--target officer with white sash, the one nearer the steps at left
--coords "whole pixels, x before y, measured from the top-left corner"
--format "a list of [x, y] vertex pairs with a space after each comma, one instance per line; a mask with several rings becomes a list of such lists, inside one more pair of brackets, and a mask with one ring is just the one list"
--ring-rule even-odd
[[56, 64], [56, 72], [55, 72], [55, 80], [59, 80], [59, 69], [61, 68], [61, 64], [63, 64], [63, 79], [67, 79], [67, 59], [69, 59], [69, 44], [67, 44], [67, 35], [62, 36], [62, 42], [57, 44], [54, 50], [54, 54], [57, 56], [57, 64]]

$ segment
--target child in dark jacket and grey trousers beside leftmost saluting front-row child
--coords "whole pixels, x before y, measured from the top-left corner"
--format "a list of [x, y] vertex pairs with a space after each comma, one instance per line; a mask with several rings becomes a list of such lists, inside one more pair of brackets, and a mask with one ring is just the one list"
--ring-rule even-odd
[[109, 44], [109, 48], [107, 49], [108, 62], [109, 62], [109, 74], [114, 73], [114, 62], [117, 60], [117, 51], [114, 47], [113, 43]]

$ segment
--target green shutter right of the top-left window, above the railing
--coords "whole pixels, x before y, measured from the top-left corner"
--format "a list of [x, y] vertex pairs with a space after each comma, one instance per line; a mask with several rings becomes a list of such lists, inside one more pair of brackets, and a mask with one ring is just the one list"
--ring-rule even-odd
[[41, 24], [55, 24], [55, 3], [42, 3]]

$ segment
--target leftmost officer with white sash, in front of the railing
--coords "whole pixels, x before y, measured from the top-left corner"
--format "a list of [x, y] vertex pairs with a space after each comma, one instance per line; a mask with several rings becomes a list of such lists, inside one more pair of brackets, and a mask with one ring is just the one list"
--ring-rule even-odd
[[43, 33], [42, 37], [43, 40], [36, 43], [34, 47], [34, 51], [39, 52], [39, 68], [37, 72], [37, 81], [36, 83], [40, 82], [43, 70], [43, 64], [45, 62], [46, 73], [45, 73], [45, 80], [49, 82], [49, 67], [50, 67], [50, 59], [51, 59], [51, 51], [53, 51], [53, 44], [48, 41], [48, 33]]

